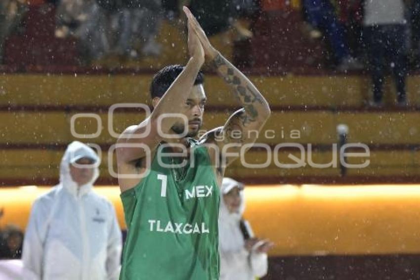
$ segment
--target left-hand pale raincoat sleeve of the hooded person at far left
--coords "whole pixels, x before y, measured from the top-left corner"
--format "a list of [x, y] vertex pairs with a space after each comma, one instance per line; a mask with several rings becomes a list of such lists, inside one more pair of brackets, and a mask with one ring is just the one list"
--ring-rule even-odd
[[32, 206], [29, 223], [26, 228], [23, 241], [23, 279], [42, 279], [43, 260], [43, 234], [47, 213], [40, 200], [36, 200]]

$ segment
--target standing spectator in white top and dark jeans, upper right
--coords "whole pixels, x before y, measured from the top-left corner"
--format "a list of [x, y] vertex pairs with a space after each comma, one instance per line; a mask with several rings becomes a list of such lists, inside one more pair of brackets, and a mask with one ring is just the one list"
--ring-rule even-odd
[[373, 106], [382, 105], [385, 71], [391, 68], [397, 88], [397, 104], [407, 105], [407, 27], [403, 0], [367, 0], [363, 34], [373, 82]]

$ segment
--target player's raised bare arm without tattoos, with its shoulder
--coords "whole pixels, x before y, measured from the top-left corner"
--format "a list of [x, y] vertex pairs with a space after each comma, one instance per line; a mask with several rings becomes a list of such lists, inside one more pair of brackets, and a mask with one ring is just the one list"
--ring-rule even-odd
[[[203, 47], [191, 28], [191, 22], [188, 22], [188, 49], [190, 59], [181, 74], [169, 87], [168, 91], [162, 96], [151, 115], [141, 122], [139, 125], [128, 127], [118, 139], [117, 158], [118, 162], [132, 162], [143, 158], [146, 150], [139, 147], [127, 147], [124, 144], [143, 144], [154, 150], [162, 141], [161, 135], [158, 133], [158, 125], [163, 133], [168, 134], [171, 127], [179, 120], [176, 117], [167, 117], [159, 122], [159, 117], [164, 114], [183, 114], [188, 108], [185, 105], [197, 74], [204, 63]], [[144, 137], [139, 137], [142, 133], [150, 130]]]

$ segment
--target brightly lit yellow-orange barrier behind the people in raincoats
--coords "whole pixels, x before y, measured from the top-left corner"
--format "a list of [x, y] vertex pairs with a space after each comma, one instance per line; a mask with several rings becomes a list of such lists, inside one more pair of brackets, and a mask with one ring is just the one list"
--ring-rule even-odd
[[[31, 204], [48, 187], [0, 189], [0, 227], [26, 227]], [[95, 187], [115, 205], [118, 187]], [[420, 185], [247, 186], [246, 218], [257, 236], [275, 242], [271, 256], [420, 252]]]

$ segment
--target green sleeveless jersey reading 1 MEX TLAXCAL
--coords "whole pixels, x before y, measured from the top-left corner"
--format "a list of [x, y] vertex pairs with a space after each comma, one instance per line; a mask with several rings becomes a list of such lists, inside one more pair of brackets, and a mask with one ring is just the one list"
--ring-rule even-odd
[[120, 280], [219, 278], [220, 190], [207, 148], [189, 141], [185, 167], [168, 167], [174, 158], [159, 145], [149, 174], [121, 194], [128, 231]]

